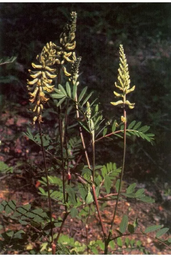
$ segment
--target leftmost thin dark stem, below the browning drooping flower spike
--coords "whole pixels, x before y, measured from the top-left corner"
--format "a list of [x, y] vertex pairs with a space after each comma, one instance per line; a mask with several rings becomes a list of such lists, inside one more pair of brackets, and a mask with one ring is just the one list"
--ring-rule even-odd
[[41, 128], [40, 121], [38, 122], [38, 127], [39, 127], [39, 134], [40, 134], [40, 141], [41, 141], [41, 148], [42, 148], [42, 155], [43, 155], [46, 183], [47, 183], [47, 189], [48, 189], [48, 204], [49, 204], [49, 212], [50, 212], [50, 227], [51, 227], [51, 237], [52, 237], [52, 244], [53, 244], [53, 223], [52, 223], [52, 206], [51, 206], [51, 198], [50, 198], [50, 186], [49, 186], [48, 170], [47, 170], [47, 165], [46, 165], [45, 151], [44, 151], [43, 138], [42, 138], [42, 128]]

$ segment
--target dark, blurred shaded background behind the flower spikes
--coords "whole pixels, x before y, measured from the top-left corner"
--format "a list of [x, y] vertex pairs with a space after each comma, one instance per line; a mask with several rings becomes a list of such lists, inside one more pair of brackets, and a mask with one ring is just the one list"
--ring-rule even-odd
[[[156, 134], [154, 146], [137, 138], [128, 139], [127, 174], [140, 180], [160, 174], [171, 179], [170, 3], [1, 3], [0, 55], [17, 56], [15, 65], [1, 68], [1, 105], [5, 100], [21, 104], [28, 99], [27, 70], [47, 42], [58, 43], [70, 11], [78, 13], [80, 85], [95, 91], [107, 119], [119, 121], [122, 111], [109, 103], [114, 101], [122, 43], [131, 84], [136, 85], [130, 99], [136, 105], [128, 122], [142, 121]], [[118, 138], [103, 141], [98, 145], [97, 161], [121, 164], [122, 149], [123, 142]]]

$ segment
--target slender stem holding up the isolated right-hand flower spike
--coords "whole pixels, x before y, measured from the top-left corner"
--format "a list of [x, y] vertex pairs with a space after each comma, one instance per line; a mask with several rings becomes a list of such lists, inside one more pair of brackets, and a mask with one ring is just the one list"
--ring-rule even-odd
[[110, 242], [110, 237], [112, 235], [112, 228], [113, 228], [113, 223], [115, 220], [115, 216], [116, 216], [116, 211], [117, 211], [117, 205], [118, 205], [118, 201], [119, 201], [119, 194], [121, 192], [121, 185], [122, 185], [122, 179], [123, 179], [123, 173], [124, 173], [124, 166], [125, 166], [125, 154], [126, 154], [126, 127], [127, 127], [127, 120], [126, 120], [126, 111], [124, 109], [124, 150], [123, 150], [123, 164], [122, 164], [122, 170], [121, 170], [121, 178], [120, 178], [120, 182], [119, 182], [119, 188], [118, 188], [118, 194], [117, 194], [117, 199], [116, 199], [116, 204], [115, 204], [115, 209], [114, 209], [114, 213], [113, 213], [113, 218], [111, 221], [111, 226], [110, 226], [110, 230], [109, 230], [109, 234], [107, 237], [107, 240], [105, 241], [105, 252], [104, 254], [107, 254], [108, 251], [108, 245]]

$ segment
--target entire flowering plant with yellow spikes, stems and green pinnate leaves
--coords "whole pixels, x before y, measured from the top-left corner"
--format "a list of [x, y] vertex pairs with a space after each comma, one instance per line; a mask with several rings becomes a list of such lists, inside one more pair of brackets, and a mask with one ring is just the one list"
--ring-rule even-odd
[[[85, 252], [88, 254], [89, 251], [93, 254], [98, 254], [100, 251], [107, 254], [109, 248], [112, 250], [117, 248], [118, 250], [123, 245], [145, 252], [140, 240], [135, 242], [129, 237], [133, 234], [148, 236], [147, 233], [156, 230], [156, 236], [153, 239], [167, 246], [170, 239], [162, 241], [159, 238], [167, 233], [169, 228], [155, 225], [146, 228], [144, 232], [137, 232], [138, 219], [133, 224], [129, 224], [129, 217], [126, 214], [119, 224], [119, 229], [115, 225], [119, 201], [125, 198], [135, 198], [147, 203], [154, 202], [151, 197], [144, 194], [144, 189], [136, 190], [136, 183], [130, 184], [125, 190], [122, 189], [127, 136], [141, 137], [152, 143], [154, 134], [146, 133], [150, 127], [147, 125], [141, 127], [140, 121], [132, 121], [127, 126], [127, 107], [133, 109], [135, 103], [130, 103], [126, 99], [126, 95], [134, 91], [135, 86], [130, 89], [128, 65], [122, 45], [120, 45], [119, 74], [115, 87], [123, 92], [114, 91], [115, 97], [121, 97], [122, 100], [111, 102], [114, 106], [121, 105], [123, 110], [123, 116], [120, 117], [121, 122], [119, 124], [116, 120], [105, 122], [97, 99], [93, 99], [93, 92], [87, 92], [87, 87], [84, 87], [81, 92], [78, 90], [81, 58], [76, 57], [74, 52], [76, 47], [76, 18], [76, 12], [71, 12], [70, 19], [60, 34], [59, 45], [50, 41], [43, 47], [41, 54], [37, 56], [38, 64], [32, 63], [32, 67], [36, 71], [29, 70], [33, 80], [27, 80], [28, 91], [31, 91], [29, 92], [29, 100], [34, 105], [32, 109], [34, 113], [33, 125], [36, 129], [38, 128], [38, 133], [34, 135], [31, 130], [27, 129], [25, 135], [42, 150], [44, 176], [38, 181], [40, 183], [38, 193], [42, 199], [48, 199], [47, 210], [34, 208], [30, 204], [18, 207], [14, 200], [10, 200], [9, 202], [1, 202], [1, 215], [14, 222], [17, 220], [23, 227], [31, 226], [36, 231], [36, 238], [40, 240], [41, 245], [36, 252], [34, 247], [32, 248], [27, 244], [26, 250], [30, 250], [30, 254], [85, 254]], [[43, 133], [42, 123], [44, 110], [47, 106], [54, 110], [58, 120], [55, 135]], [[73, 126], [68, 124], [69, 116], [73, 116], [75, 121]], [[73, 127], [78, 131], [78, 133], [74, 133], [74, 136]], [[111, 132], [108, 133], [109, 128]], [[84, 140], [86, 133], [90, 150]], [[117, 168], [117, 164], [111, 161], [103, 165], [96, 165], [96, 142], [104, 138], [114, 140], [115, 136], [123, 138], [122, 166]], [[82, 157], [83, 154], [85, 157]], [[47, 162], [47, 156], [51, 158], [50, 163]], [[6, 164], [1, 162], [0, 166], [1, 170], [9, 171]], [[113, 217], [106, 228], [99, 203], [109, 200], [115, 204]], [[61, 206], [60, 214], [54, 214], [53, 202]], [[89, 217], [94, 215], [95, 211], [97, 211], [103, 232], [102, 240], [89, 241], [87, 234], [87, 243], [82, 244], [75, 241], [74, 238], [62, 234], [62, 229], [69, 215], [71, 218], [81, 218], [87, 231]], [[113, 236], [114, 231], [116, 232], [115, 236]], [[2, 234], [3, 248], [7, 247], [5, 245], [6, 236], [9, 239], [7, 245], [9, 245], [13, 238], [21, 239], [22, 234], [26, 234], [25, 230], [19, 230], [16, 233], [7, 231]], [[122, 238], [125, 236], [126, 238], [123, 240]]]

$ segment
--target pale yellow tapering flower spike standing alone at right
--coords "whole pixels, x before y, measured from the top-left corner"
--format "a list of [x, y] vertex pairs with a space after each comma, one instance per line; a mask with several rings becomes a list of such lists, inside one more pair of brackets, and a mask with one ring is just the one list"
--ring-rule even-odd
[[120, 63], [119, 63], [119, 69], [118, 69], [118, 81], [115, 82], [115, 86], [119, 88], [123, 93], [117, 93], [113, 92], [116, 97], [123, 97], [123, 100], [119, 100], [117, 102], [111, 102], [112, 105], [128, 105], [130, 109], [134, 108], [135, 103], [130, 103], [128, 100], [126, 100], [126, 94], [134, 91], [135, 86], [133, 86], [131, 89], [130, 87], [130, 79], [129, 79], [129, 71], [128, 71], [128, 64], [127, 59], [124, 54], [123, 46], [120, 45], [119, 48], [119, 55], [120, 55]]

